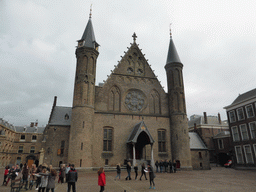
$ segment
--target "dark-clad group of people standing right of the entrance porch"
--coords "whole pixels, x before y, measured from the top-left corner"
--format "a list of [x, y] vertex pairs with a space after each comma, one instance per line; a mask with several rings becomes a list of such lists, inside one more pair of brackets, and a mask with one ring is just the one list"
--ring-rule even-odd
[[167, 160], [160, 160], [155, 162], [156, 166], [156, 172], [160, 173], [176, 173], [176, 161], [175, 160], [170, 160], [169, 162]]

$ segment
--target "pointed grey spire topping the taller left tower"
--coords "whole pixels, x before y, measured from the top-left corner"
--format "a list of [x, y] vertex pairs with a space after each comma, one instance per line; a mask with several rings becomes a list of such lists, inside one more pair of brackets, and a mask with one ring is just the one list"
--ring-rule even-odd
[[95, 39], [91, 16], [92, 16], [92, 6], [90, 8], [89, 21], [85, 27], [82, 38], [78, 41], [78, 44], [82, 43], [82, 46], [84, 47], [97, 49], [99, 44], [96, 42], [96, 39]]

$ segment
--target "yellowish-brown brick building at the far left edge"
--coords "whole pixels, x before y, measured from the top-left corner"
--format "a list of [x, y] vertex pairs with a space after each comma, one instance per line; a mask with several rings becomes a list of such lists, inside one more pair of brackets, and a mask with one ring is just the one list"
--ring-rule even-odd
[[13, 126], [0, 119], [0, 167], [27, 162], [39, 163], [44, 127], [31, 123], [29, 127]]

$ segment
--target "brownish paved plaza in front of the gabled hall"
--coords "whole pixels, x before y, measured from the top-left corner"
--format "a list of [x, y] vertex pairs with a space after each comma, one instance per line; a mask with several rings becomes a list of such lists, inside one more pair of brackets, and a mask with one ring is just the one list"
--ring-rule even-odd
[[[0, 182], [3, 181], [3, 169], [0, 169]], [[149, 189], [149, 180], [145, 178], [126, 181], [126, 171], [122, 170], [121, 180], [114, 180], [116, 172], [106, 172], [105, 192], [138, 192], [138, 191], [256, 191], [256, 171], [234, 170], [223, 167], [213, 167], [211, 170], [178, 171], [177, 173], [157, 173], [156, 189]], [[82, 172], [78, 170], [77, 192], [98, 192], [98, 176], [96, 172]], [[140, 176], [140, 172], [139, 172]], [[1, 192], [9, 192], [10, 187], [1, 186]], [[23, 190], [22, 190], [23, 191]], [[33, 190], [35, 191], [35, 188]], [[56, 184], [55, 192], [66, 192], [67, 184]]]

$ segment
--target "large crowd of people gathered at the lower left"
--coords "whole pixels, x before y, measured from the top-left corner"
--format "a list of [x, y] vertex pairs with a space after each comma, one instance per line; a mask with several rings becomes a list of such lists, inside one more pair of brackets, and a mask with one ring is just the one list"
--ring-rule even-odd
[[[67, 168], [65, 167], [65, 169], [63, 169], [62, 166], [60, 172], [63, 173], [63, 171], [65, 171], [64, 177], [68, 183], [68, 192], [70, 192], [71, 186], [73, 192], [75, 192], [75, 183], [77, 182], [78, 175], [74, 165], [69, 165]], [[20, 166], [12, 166], [11, 168], [6, 166], [3, 185], [7, 186], [10, 180], [12, 181], [11, 185], [13, 185], [15, 179], [20, 177], [22, 179], [25, 190], [31, 190], [36, 183], [36, 190], [39, 190], [39, 192], [54, 192], [55, 180], [57, 176], [57, 171], [53, 169], [51, 165], [48, 166], [47, 164], [39, 165], [38, 167], [36, 167], [35, 164], [32, 164], [31, 167], [28, 167], [26, 163], [24, 165], [21, 164]], [[61, 176], [59, 175], [59, 178], [63, 183], [64, 178], [62, 177], [62, 174]]]

